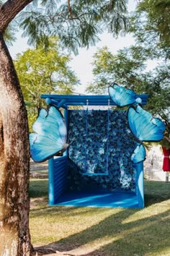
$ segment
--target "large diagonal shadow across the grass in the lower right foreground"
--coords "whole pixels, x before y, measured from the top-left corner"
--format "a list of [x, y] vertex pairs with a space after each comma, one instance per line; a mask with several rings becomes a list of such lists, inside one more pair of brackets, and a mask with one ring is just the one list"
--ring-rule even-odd
[[35, 248], [35, 252], [43, 252], [43, 255], [57, 251], [60, 255], [74, 256], [141, 256], [156, 252], [160, 252], [157, 255], [161, 255], [161, 251], [169, 247], [167, 255], [170, 255], [170, 210], [151, 217], [128, 221], [131, 215], [138, 212], [140, 210], [122, 210], [80, 233]]

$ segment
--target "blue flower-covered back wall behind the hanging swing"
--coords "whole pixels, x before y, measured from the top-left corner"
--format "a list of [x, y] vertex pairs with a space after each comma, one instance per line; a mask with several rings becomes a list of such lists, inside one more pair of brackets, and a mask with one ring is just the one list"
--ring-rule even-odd
[[137, 142], [128, 127], [127, 111], [71, 110], [68, 124], [69, 188], [134, 192], [130, 156]]

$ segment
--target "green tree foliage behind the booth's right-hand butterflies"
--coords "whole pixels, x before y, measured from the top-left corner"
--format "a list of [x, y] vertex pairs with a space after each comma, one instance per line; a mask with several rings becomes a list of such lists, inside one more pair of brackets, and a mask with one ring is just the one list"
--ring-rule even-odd
[[[94, 54], [94, 82], [87, 87], [87, 91], [97, 94], [107, 93], [108, 85], [116, 81], [135, 90], [136, 93], [148, 94], [146, 109], [165, 122], [165, 135], [170, 137], [169, 60], [162, 59], [152, 72], [146, 72], [147, 56], [148, 51], [146, 53], [140, 46], [123, 48], [117, 51], [117, 54], [112, 54], [107, 47], [99, 49]], [[162, 143], [170, 148], [168, 140], [165, 139]]]

